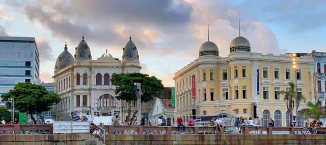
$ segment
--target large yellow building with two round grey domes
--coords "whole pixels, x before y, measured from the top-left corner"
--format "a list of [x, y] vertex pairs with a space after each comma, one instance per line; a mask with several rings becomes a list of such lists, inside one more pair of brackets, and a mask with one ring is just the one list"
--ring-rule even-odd
[[[178, 70], [173, 78], [176, 116], [185, 120], [195, 115], [197, 118], [258, 116], [262, 125], [267, 125], [272, 117], [275, 126], [286, 126], [289, 120], [286, 102], [277, 92], [287, 90], [288, 83], [295, 82], [295, 75], [297, 91], [307, 101], [314, 101], [312, 57], [298, 57], [295, 72], [292, 57], [254, 53], [250, 49], [249, 41], [243, 37], [231, 42], [228, 57], [220, 57], [213, 42], [202, 44], [199, 57]], [[305, 107], [304, 102], [301, 104], [298, 110]], [[302, 117], [299, 118], [302, 125]]]

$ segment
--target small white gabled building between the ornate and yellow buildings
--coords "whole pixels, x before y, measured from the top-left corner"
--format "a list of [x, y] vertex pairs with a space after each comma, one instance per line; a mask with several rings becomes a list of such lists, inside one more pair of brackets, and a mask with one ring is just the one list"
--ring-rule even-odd
[[152, 116], [149, 119], [152, 125], [156, 125], [158, 117], [163, 116], [167, 120], [167, 125], [171, 126], [175, 122], [174, 107], [171, 99], [157, 98], [154, 103]]

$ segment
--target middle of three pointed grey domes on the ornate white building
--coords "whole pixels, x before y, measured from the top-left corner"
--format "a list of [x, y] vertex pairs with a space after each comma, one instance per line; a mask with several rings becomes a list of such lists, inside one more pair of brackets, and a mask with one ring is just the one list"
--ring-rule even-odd
[[76, 47], [76, 52], [75, 52], [75, 59], [86, 59], [86, 60], [91, 60], [91, 50], [86, 41], [83, 40], [79, 42], [78, 46]]

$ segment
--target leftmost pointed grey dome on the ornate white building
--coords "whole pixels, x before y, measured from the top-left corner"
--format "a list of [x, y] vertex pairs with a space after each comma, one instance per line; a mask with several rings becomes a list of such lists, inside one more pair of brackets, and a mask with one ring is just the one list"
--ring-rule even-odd
[[73, 57], [68, 52], [68, 48], [67, 48], [67, 44], [66, 44], [65, 50], [57, 58], [55, 69], [60, 70], [72, 63], [73, 63]]

